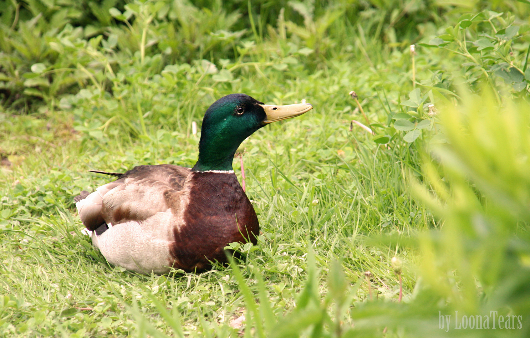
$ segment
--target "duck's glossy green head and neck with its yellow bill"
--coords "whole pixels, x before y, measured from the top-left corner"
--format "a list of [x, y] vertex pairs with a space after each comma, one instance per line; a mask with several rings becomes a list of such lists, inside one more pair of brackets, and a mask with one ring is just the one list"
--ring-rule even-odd
[[210, 105], [202, 120], [199, 159], [193, 171], [232, 170], [234, 154], [243, 140], [268, 123], [302, 115], [309, 103], [269, 105], [249, 95], [230, 94]]

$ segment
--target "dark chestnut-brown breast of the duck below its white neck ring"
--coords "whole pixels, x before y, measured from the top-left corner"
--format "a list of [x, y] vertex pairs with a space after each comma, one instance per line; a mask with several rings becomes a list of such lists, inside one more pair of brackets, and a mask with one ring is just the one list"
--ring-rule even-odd
[[235, 174], [191, 173], [184, 225], [174, 230], [173, 266], [185, 271], [226, 262], [223, 248], [232, 242], [257, 243], [258, 217]]

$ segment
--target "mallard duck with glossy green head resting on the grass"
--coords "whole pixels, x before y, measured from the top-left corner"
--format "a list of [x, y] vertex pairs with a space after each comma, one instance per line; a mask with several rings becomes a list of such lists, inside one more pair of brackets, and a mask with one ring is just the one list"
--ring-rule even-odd
[[259, 221], [232, 168], [238, 146], [254, 131], [301, 115], [308, 103], [268, 105], [230, 94], [204, 115], [192, 168], [139, 165], [94, 192], [74, 198], [92, 243], [105, 259], [138, 273], [203, 271], [226, 262], [228, 243], [257, 243]]

